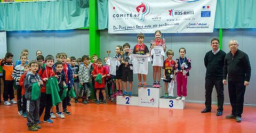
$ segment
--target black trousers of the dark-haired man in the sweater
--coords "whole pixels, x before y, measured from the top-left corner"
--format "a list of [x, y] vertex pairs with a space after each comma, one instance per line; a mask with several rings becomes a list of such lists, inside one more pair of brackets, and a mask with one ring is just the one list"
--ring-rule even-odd
[[205, 107], [208, 110], [211, 110], [212, 107], [212, 89], [215, 86], [218, 98], [218, 109], [217, 111], [223, 111], [223, 103], [224, 103], [224, 87], [222, 80], [212, 80], [205, 79]]

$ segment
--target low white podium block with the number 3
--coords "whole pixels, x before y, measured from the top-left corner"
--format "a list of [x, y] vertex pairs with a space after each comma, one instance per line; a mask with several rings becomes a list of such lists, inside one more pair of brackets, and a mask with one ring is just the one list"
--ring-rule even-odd
[[159, 98], [159, 107], [167, 109], [184, 109], [185, 101], [182, 101], [181, 99], [177, 100], [175, 98], [164, 98], [162, 96]]

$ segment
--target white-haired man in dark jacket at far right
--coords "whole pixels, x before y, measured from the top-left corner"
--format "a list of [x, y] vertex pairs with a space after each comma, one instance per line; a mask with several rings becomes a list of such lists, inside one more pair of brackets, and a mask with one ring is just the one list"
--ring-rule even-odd
[[227, 84], [228, 75], [228, 94], [232, 112], [230, 115], [226, 115], [226, 118], [241, 122], [245, 87], [249, 85], [251, 78], [251, 65], [249, 56], [238, 49], [237, 40], [230, 40], [228, 45], [230, 52], [225, 56], [223, 84]]

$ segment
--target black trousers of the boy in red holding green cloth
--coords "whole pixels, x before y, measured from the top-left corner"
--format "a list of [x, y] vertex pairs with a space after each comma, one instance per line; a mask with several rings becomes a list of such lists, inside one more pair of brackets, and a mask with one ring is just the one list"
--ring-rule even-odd
[[41, 117], [45, 109], [44, 120], [50, 119], [51, 108], [52, 108], [52, 95], [41, 93], [40, 105], [39, 105], [39, 117]]

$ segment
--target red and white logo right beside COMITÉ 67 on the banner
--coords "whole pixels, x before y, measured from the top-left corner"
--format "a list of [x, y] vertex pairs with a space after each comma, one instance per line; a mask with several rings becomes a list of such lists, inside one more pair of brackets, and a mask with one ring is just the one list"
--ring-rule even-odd
[[137, 12], [140, 14], [140, 21], [145, 21], [145, 16], [150, 12], [149, 4], [142, 2], [139, 6], [136, 7]]

